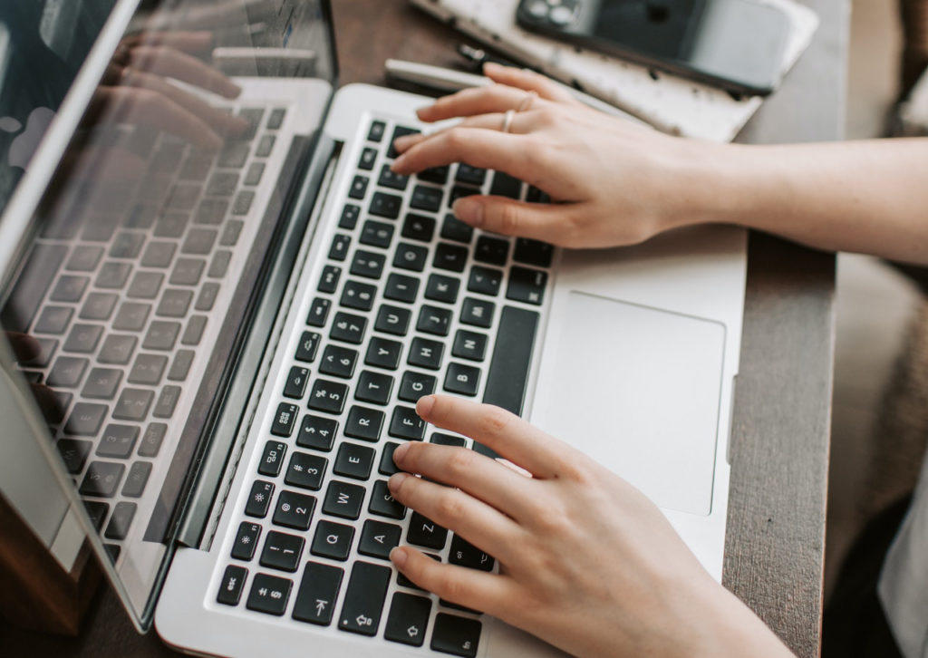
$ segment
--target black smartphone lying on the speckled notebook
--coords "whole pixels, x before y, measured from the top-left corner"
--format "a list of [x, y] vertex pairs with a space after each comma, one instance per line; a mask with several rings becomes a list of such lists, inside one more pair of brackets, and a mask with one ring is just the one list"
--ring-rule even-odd
[[766, 96], [780, 84], [790, 19], [753, 0], [522, 0], [526, 30], [654, 69]]

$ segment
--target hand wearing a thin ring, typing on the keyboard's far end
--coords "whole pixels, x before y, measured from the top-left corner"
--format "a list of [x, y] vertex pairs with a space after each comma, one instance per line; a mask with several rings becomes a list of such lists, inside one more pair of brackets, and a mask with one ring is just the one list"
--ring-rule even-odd
[[[396, 140], [399, 174], [462, 161], [496, 169], [538, 187], [553, 204], [466, 197], [454, 211], [470, 224], [503, 235], [565, 247], [635, 244], [690, 224], [693, 198], [718, 145], [663, 135], [580, 104], [532, 71], [487, 64], [496, 84], [465, 89], [419, 110], [419, 119], [463, 118], [432, 135]], [[537, 97], [527, 96], [536, 94]], [[505, 112], [523, 105], [509, 134]]]

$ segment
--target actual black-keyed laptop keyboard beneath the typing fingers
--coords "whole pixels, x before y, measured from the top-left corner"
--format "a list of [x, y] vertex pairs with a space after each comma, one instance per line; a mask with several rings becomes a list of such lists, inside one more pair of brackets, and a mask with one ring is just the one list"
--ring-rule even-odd
[[482, 192], [546, 199], [506, 174], [464, 164], [393, 174], [393, 138], [415, 131], [380, 120], [365, 130], [325, 263], [300, 306], [302, 326], [227, 539], [215, 600], [474, 656], [480, 613], [420, 590], [388, 556], [408, 544], [472, 569], [492, 571], [495, 561], [406, 510], [387, 478], [403, 441], [494, 456], [470, 439], [433, 432], [416, 415], [422, 395], [521, 411], [553, 248], [474, 230], [451, 204]]

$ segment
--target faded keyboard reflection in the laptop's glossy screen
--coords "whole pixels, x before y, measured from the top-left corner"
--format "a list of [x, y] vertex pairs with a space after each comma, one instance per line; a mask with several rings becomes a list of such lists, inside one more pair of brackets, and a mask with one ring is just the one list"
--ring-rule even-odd
[[149, 483], [155, 459], [183, 428], [176, 409], [196, 393], [196, 352], [225, 316], [216, 300], [238, 281], [233, 258], [250, 247], [246, 217], [276, 178], [265, 170], [286, 109], [229, 111], [249, 128], [218, 152], [170, 135], [135, 143], [151, 154], [141, 184], [108, 187], [110, 214], [50, 222], [14, 291], [20, 307], [31, 304], [28, 331], [42, 346], [22, 367], [55, 391], [58, 452], [113, 561], [140, 498], [160, 487]]

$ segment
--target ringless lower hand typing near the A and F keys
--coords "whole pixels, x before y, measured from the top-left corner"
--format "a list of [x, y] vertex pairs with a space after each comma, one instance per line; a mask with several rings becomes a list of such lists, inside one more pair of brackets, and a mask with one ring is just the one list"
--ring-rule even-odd
[[393, 475], [393, 497], [500, 563], [488, 574], [394, 548], [420, 587], [576, 655], [791, 655], [611, 471], [495, 406], [430, 395], [416, 408], [531, 474], [465, 448], [396, 448], [396, 465], [422, 477]]

